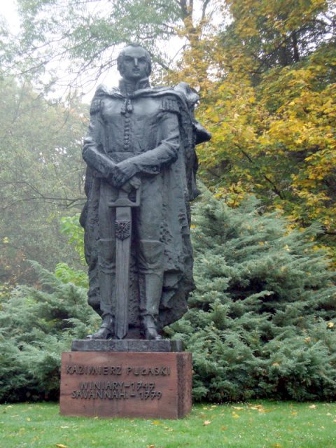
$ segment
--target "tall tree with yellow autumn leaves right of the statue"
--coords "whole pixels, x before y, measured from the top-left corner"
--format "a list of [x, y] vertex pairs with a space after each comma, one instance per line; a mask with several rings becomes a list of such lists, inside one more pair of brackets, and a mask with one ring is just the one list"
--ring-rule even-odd
[[318, 221], [335, 246], [335, 2], [225, 5], [230, 25], [169, 74], [202, 94], [197, 114], [213, 133], [203, 179], [232, 204], [253, 193], [301, 228]]

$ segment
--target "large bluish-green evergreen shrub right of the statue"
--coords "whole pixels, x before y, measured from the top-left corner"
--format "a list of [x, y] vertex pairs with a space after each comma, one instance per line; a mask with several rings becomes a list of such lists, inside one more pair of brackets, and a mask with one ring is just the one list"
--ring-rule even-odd
[[318, 229], [209, 193], [193, 219], [196, 290], [168, 332], [193, 352], [195, 398], [335, 399], [335, 272]]

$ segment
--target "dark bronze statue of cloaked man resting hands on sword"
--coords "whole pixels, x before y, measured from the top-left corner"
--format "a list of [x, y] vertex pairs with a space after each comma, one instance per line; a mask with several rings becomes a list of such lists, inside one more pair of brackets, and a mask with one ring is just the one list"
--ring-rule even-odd
[[94, 95], [83, 146], [88, 302], [102, 316], [89, 338], [160, 339], [193, 289], [195, 145], [210, 134], [186, 83], [150, 86], [151, 57], [140, 45], [120, 52], [118, 70], [119, 88]]

